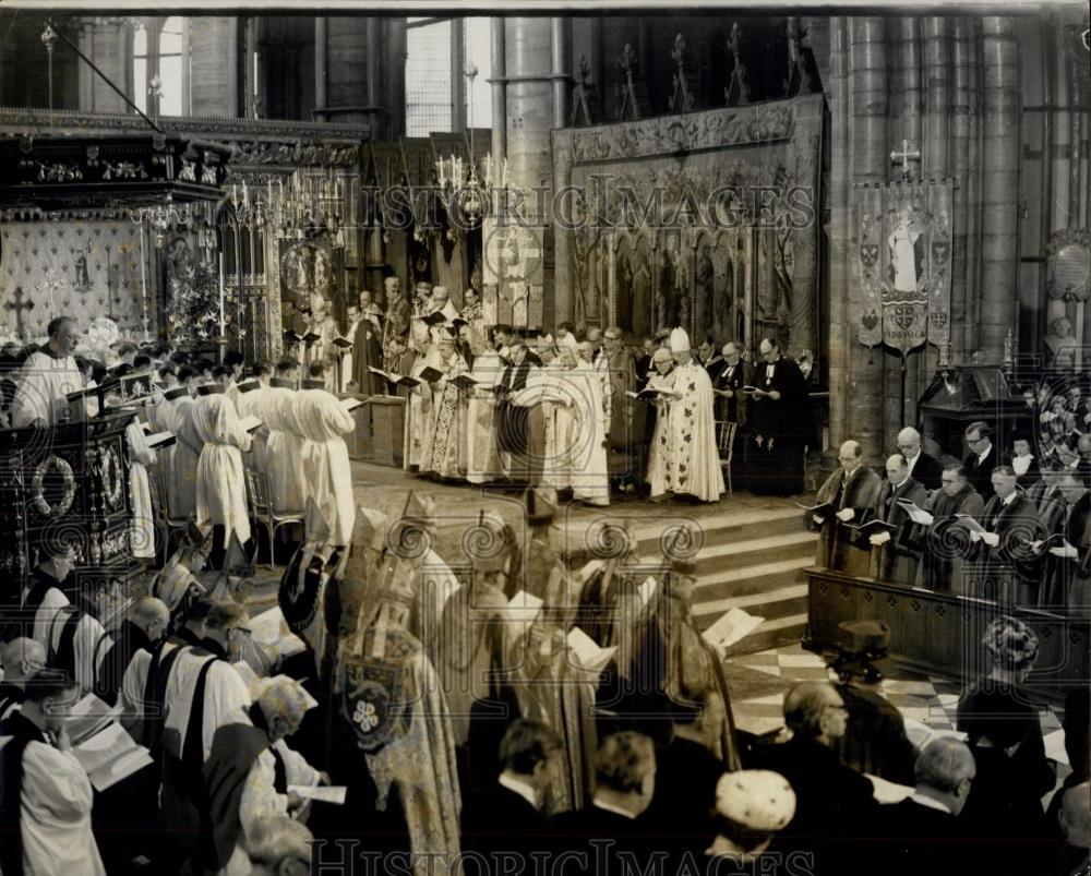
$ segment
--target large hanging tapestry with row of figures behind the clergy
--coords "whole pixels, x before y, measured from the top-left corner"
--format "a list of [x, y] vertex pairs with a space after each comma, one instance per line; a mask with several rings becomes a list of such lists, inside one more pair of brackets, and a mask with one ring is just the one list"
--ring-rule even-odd
[[823, 111], [814, 95], [553, 131], [558, 321], [817, 352]]

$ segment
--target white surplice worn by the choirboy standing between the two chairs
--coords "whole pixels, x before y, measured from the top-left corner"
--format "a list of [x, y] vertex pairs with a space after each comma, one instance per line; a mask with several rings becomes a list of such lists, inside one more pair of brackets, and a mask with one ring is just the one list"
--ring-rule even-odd
[[223, 526], [225, 550], [232, 535], [244, 544], [250, 540], [250, 512], [242, 453], [250, 449], [250, 435], [224, 393], [201, 396], [193, 421], [204, 444], [197, 461], [197, 526]]

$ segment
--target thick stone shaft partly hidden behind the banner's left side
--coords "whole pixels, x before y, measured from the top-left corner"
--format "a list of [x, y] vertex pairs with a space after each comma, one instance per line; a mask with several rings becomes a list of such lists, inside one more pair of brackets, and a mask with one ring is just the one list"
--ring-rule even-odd
[[[849, 22], [849, 88], [852, 99], [851, 182], [886, 181], [890, 161], [887, 139], [886, 22], [878, 16], [861, 16]], [[850, 289], [855, 284], [849, 278]], [[831, 345], [832, 346], [832, 345]], [[849, 343], [849, 437], [859, 441], [864, 453], [878, 459], [884, 452], [883, 357], [868, 351], [855, 337]]]

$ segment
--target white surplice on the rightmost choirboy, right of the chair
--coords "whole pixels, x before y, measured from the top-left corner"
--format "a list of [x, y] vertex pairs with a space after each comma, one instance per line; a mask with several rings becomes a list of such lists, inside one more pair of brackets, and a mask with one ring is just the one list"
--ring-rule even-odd
[[301, 389], [296, 420], [303, 433], [303, 479], [307, 500], [303, 525], [308, 541], [351, 544], [356, 525], [352, 469], [343, 435], [356, 421], [337, 397], [325, 389]]

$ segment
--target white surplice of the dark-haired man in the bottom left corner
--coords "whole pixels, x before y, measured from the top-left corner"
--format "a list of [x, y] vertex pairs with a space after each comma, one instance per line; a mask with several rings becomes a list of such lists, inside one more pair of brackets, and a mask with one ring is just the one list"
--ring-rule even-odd
[[91, 829], [94, 792], [74, 755], [27, 743], [20, 803], [26, 876], [106, 876]]

